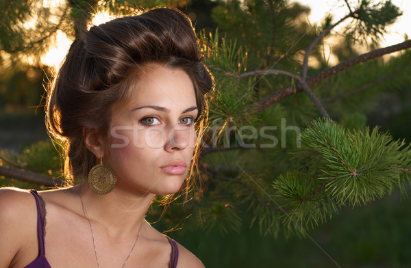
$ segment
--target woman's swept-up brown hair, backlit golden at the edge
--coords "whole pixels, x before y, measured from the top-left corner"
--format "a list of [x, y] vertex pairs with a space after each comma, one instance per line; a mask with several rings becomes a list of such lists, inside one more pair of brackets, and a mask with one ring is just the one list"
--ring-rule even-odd
[[[63, 144], [66, 180], [87, 177], [96, 159], [84, 144], [83, 129], [108, 137], [113, 105], [127, 98], [134, 88], [130, 74], [145, 64], [158, 62], [184, 70], [194, 85], [201, 113], [203, 94], [212, 88], [202, 60], [190, 20], [170, 8], [116, 18], [76, 39], [47, 97], [47, 129]], [[195, 155], [198, 149], [199, 142]]]

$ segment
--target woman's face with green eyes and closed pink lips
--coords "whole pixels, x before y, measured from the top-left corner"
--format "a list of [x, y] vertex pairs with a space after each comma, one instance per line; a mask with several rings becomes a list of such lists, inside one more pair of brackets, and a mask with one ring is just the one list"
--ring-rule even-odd
[[116, 187], [175, 193], [195, 147], [195, 90], [184, 70], [159, 64], [145, 67], [139, 79], [127, 103], [112, 111], [110, 155], [103, 160], [116, 172]]

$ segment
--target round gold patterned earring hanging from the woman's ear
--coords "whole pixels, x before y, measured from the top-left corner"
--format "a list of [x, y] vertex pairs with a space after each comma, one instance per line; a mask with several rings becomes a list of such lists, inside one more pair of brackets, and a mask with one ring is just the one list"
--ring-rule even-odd
[[116, 174], [114, 170], [103, 164], [103, 159], [100, 159], [99, 165], [95, 165], [88, 172], [88, 185], [92, 191], [98, 194], [107, 194], [116, 186]]

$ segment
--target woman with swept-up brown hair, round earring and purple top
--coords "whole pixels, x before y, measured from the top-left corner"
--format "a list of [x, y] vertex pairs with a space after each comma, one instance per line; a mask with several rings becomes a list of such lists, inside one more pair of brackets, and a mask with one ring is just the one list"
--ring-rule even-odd
[[190, 184], [211, 87], [177, 10], [116, 18], [75, 40], [47, 101], [75, 186], [0, 189], [0, 267], [203, 267], [145, 213], [154, 195]]

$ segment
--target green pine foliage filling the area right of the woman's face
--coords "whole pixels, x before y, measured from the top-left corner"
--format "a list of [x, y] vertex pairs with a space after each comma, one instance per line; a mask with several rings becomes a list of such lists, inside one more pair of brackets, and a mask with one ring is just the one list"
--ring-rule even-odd
[[[224, 196], [236, 200], [238, 207], [249, 204], [250, 224], [258, 224], [262, 234], [276, 235], [283, 229], [287, 237], [306, 235], [307, 228], [323, 224], [342, 206], [382, 198], [395, 186], [405, 193], [409, 182], [410, 146], [377, 128], [370, 133], [365, 116], [375, 109], [381, 92], [398, 90], [410, 82], [407, 74], [398, 72], [409, 70], [408, 52], [388, 63], [375, 59], [353, 66], [312, 85], [312, 92], [347, 129], [328, 120], [312, 122], [318, 111], [303, 94], [276, 101], [262, 112], [253, 111], [271, 92], [287, 86], [297, 91], [301, 83], [293, 77], [259, 75], [254, 70], [275, 66], [295, 73], [308, 44], [321, 31], [334, 27], [332, 17], [312, 31], [297, 19], [289, 20], [304, 12], [300, 5], [284, 5], [283, 1], [227, 1], [213, 10], [219, 31], [200, 36], [212, 44], [207, 64], [217, 88], [210, 106], [210, 133], [218, 138], [209, 144], [212, 148], [205, 149], [210, 153], [202, 159], [205, 174], [213, 178], [207, 180], [204, 199], [210, 202]], [[384, 14], [376, 18], [376, 12]], [[377, 40], [401, 14], [389, 1], [362, 1], [347, 13], [352, 21], [345, 28], [346, 38], [361, 36], [364, 42]], [[221, 38], [223, 31], [226, 34]], [[261, 37], [260, 32], [264, 32]], [[306, 43], [298, 42], [304, 32], [309, 33], [303, 38]], [[314, 46], [312, 55], [321, 64], [317, 70], [310, 68], [310, 74], [329, 68], [321, 46]], [[306, 126], [301, 133], [299, 128]], [[256, 131], [247, 133], [247, 127]], [[252, 144], [253, 149], [245, 144]]]

